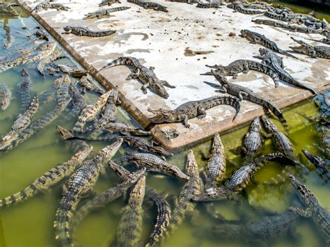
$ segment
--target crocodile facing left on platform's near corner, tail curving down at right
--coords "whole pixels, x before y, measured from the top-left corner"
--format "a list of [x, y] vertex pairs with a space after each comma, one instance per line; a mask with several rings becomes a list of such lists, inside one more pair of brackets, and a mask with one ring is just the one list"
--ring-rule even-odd
[[237, 114], [239, 113], [241, 105], [237, 97], [231, 96], [212, 96], [206, 99], [189, 101], [181, 104], [174, 110], [152, 110], [148, 108], [148, 111], [156, 114], [154, 117], [149, 118], [149, 121], [154, 123], [182, 122], [184, 127], [189, 128], [189, 119], [196, 117], [198, 119], [205, 118], [206, 110], [211, 109], [214, 106], [219, 106], [220, 104], [227, 104], [235, 108], [236, 113], [233, 117], [234, 121]]

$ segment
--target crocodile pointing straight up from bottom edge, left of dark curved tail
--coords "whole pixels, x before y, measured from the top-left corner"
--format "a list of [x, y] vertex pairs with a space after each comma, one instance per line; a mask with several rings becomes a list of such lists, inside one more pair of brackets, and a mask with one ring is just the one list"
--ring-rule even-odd
[[146, 177], [143, 175], [129, 194], [128, 205], [123, 208], [117, 230], [116, 246], [139, 246], [142, 233], [142, 202], [146, 189]]

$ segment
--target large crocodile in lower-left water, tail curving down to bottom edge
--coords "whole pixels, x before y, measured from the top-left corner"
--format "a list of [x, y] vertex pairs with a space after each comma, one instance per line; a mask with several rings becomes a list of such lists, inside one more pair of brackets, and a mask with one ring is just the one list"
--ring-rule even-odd
[[79, 200], [91, 193], [93, 186], [100, 174], [105, 161], [111, 159], [118, 151], [123, 139], [118, 139], [111, 145], [97, 152], [95, 157], [85, 161], [68, 180], [64, 190], [63, 198], [59, 203], [54, 228], [56, 239], [61, 246], [72, 246], [72, 237], [70, 232], [70, 223], [72, 216], [77, 208]]

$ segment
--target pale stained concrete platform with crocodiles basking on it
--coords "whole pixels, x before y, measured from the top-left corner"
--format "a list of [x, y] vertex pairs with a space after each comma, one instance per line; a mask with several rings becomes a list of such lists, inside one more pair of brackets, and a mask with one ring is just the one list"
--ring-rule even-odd
[[[238, 35], [241, 29], [265, 34], [285, 50], [289, 49], [290, 45], [295, 45], [290, 40], [291, 35], [301, 39], [322, 38], [316, 34], [290, 33], [275, 27], [257, 25], [251, 22], [251, 19], [265, 17], [233, 13], [233, 10], [226, 6], [219, 9], [201, 9], [185, 3], [155, 1], [167, 6], [168, 13], [145, 10], [123, 1], [121, 4], [113, 4], [111, 8], [130, 6], [129, 10], [112, 13], [110, 17], [102, 19], [84, 20], [84, 14], [97, 10], [99, 3], [86, 0], [71, 3], [58, 1], [71, 8], [68, 12], [47, 10], [31, 13], [104, 88], [118, 86], [123, 97], [123, 106], [143, 127], [149, 125], [148, 118], [152, 116], [152, 113], [147, 111], [148, 107], [175, 109], [184, 102], [216, 95], [214, 88], [203, 83], [216, 83], [215, 79], [200, 75], [208, 71], [205, 64], [228, 65], [237, 59], [254, 59], [252, 57], [258, 54], [260, 45], [249, 44], [245, 38], [240, 38]], [[19, 0], [19, 3], [29, 12], [38, 4], [24, 0]], [[103, 38], [62, 34], [63, 26], [68, 24], [88, 26], [93, 30], [115, 29], [116, 33]], [[134, 56], [146, 67], [155, 67], [157, 77], [176, 88], [168, 88], [170, 97], [163, 99], [150, 90], [144, 95], [140, 90], [142, 85], [137, 80], [126, 81], [130, 71], [125, 66], [97, 72], [100, 67], [118, 56]], [[285, 70], [319, 92], [330, 88], [329, 60], [297, 56], [299, 60], [284, 56]], [[274, 88], [272, 79], [258, 72], [240, 74], [238, 79], [230, 79], [230, 82], [233, 81], [271, 99], [280, 108], [311, 96], [306, 90], [283, 84]], [[208, 110], [207, 116], [202, 120], [189, 120], [190, 129], [184, 128], [180, 123], [162, 124], [152, 127], [152, 134], [166, 148], [175, 149], [209, 138], [216, 132], [242, 125], [254, 116], [261, 115], [262, 108], [243, 101], [241, 111], [234, 122], [233, 114], [234, 110], [230, 106], [217, 106]], [[167, 140], [162, 131], [171, 128], [177, 129], [180, 136]]]

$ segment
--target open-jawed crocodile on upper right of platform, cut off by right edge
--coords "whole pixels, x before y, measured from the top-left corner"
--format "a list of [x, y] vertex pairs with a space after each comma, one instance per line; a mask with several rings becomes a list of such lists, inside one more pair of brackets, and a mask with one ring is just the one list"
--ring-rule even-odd
[[302, 40], [296, 40], [291, 37], [294, 42], [300, 44], [299, 47], [290, 47], [292, 50], [311, 56], [311, 58], [327, 58], [330, 59], [330, 46], [327, 45], [308, 45]]

